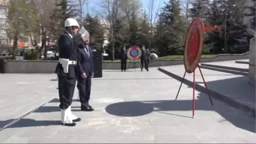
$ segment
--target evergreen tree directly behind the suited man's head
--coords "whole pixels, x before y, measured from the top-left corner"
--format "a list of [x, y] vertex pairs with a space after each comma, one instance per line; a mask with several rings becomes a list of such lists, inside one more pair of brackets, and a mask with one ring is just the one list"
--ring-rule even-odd
[[99, 23], [98, 17], [91, 17], [87, 15], [83, 20], [83, 27], [87, 29], [90, 34], [90, 45], [93, 49], [101, 49], [103, 47], [104, 29]]

